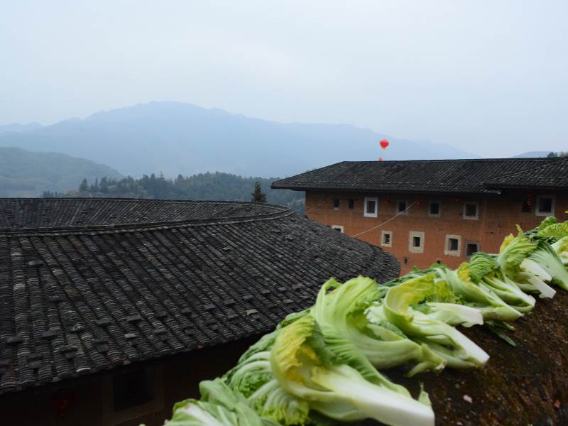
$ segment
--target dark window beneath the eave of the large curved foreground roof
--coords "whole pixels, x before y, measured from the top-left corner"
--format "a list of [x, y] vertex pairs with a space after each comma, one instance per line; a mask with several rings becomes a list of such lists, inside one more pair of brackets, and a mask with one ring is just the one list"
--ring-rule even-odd
[[112, 380], [114, 411], [126, 410], [154, 399], [153, 370], [129, 371]]

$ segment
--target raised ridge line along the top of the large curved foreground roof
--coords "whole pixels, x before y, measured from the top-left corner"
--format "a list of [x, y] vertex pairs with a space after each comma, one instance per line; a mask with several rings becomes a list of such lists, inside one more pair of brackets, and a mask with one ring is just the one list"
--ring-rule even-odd
[[[195, 221], [177, 221], [177, 222], [156, 222], [151, 224], [125, 224], [125, 225], [99, 225], [86, 227], [60, 227], [60, 228], [29, 228], [17, 229], [0, 229], [0, 236], [68, 236], [68, 235], [94, 235], [94, 234], [122, 234], [124, 232], [136, 231], [155, 231], [160, 229], [176, 229], [187, 228], [191, 226], [209, 226], [215, 224], [241, 224], [249, 222], [258, 222], [263, 220], [280, 219], [295, 214], [292, 209], [287, 208], [282, 212], [266, 214], [262, 217], [231, 217], [226, 219], [199, 219]], [[7, 232], [6, 232], [7, 231]]]

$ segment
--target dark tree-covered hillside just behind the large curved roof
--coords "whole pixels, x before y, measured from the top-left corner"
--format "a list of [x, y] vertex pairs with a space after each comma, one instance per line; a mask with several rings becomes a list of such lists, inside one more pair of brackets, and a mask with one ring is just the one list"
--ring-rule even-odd
[[[290, 190], [271, 190], [271, 183], [278, 178], [243, 178], [229, 173], [200, 173], [167, 179], [163, 175], [143, 175], [141, 179], [128, 178], [116, 180], [85, 179], [78, 188], [80, 197], [133, 197], [161, 200], [219, 200], [251, 201], [254, 183], [260, 182], [267, 202], [292, 208], [303, 213], [304, 192]], [[57, 196], [45, 192], [44, 197]]]

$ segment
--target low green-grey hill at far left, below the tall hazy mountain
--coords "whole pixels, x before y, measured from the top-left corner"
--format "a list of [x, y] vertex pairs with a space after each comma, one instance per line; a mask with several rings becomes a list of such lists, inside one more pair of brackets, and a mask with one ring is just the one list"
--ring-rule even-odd
[[121, 178], [104, 164], [59, 153], [0, 148], [0, 197], [37, 197], [43, 191], [75, 190], [83, 178]]

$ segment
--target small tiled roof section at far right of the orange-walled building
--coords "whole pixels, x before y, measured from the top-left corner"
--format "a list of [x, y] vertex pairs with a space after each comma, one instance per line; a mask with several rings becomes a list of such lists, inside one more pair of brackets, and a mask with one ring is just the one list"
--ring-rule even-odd
[[552, 158], [530, 170], [508, 173], [486, 182], [487, 187], [531, 187], [568, 190], [568, 157]]

